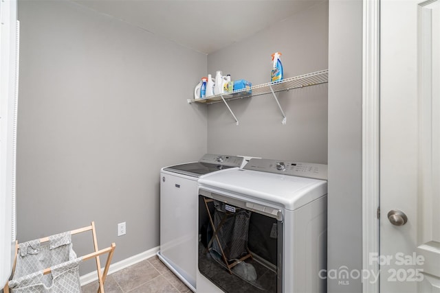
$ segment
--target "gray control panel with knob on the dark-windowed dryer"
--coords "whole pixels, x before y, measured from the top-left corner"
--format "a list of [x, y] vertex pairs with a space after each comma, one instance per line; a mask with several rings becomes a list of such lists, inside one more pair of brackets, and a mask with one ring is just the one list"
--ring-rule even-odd
[[251, 159], [243, 169], [327, 180], [327, 165], [272, 159]]

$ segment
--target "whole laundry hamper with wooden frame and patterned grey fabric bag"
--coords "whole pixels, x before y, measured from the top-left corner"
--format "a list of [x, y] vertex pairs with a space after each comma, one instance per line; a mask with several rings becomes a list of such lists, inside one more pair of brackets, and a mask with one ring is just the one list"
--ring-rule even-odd
[[[72, 235], [91, 231], [94, 253], [77, 257]], [[6, 283], [5, 293], [75, 293], [81, 292], [79, 265], [81, 261], [96, 259], [99, 288], [104, 293], [104, 281], [116, 245], [98, 250], [94, 222], [90, 226], [17, 244], [12, 279]], [[104, 272], [99, 256], [108, 253]]]

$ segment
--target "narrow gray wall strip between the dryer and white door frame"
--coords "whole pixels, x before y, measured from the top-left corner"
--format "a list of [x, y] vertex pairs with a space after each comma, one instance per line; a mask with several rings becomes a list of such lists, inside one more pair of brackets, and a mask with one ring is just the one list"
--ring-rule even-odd
[[[362, 0], [329, 3], [329, 270], [362, 270]], [[342, 285], [339, 281], [348, 281]], [[328, 292], [362, 292], [328, 279]]]

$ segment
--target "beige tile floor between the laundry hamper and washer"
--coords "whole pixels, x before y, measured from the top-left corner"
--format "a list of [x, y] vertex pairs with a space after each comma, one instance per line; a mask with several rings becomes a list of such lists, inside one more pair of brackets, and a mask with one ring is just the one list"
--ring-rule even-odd
[[[98, 281], [84, 285], [82, 290], [83, 293], [96, 293]], [[104, 291], [106, 293], [191, 292], [157, 256], [109, 274], [104, 283]]]

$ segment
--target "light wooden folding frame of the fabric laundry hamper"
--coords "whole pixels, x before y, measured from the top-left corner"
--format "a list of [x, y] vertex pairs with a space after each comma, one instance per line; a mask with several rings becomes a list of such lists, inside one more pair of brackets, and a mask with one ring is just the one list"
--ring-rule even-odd
[[[98, 250], [98, 241], [96, 239], [95, 222], [91, 222], [90, 226], [86, 226], [83, 228], [78, 228], [76, 230], [70, 231], [70, 235], [83, 233], [83, 232], [87, 232], [87, 231], [91, 231], [91, 235], [93, 236], [95, 252], [89, 253], [88, 255], [83, 256], [82, 260], [85, 261], [87, 259], [92, 259], [92, 258], [96, 259], [96, 270], [98, 272], [98, 281], [99, 281], [98, 293], [104, 293], [104, 282], [105, 282], [105, 279], [107, 278], [107, 273], [109, 272], [110, 262], [111, 262], [111, 258], [113, 257], [113, 253], [115, 251], [116, 244], [113, 242], [111, 244], [111, 246], [104, 248], [104, 249], [101, 249], [101, 250]], [[49, 237], [43, 237], [40, 239], [40, 243], [47, 242], [47, 241], [49, 241]], [[14, 267], [12, 268], [12, 275], [14, 275], [15, 266], [17, 263], [18, 250], [19, 250], [19, 244], [17, 242], [16, 246], [15, 246], [15, 260], [14, 260]], [[107, 257], [107, 261], [105, 263], [104, 272], [101, 272], [101, 263], [100, 263], [99, 256], [104, 255], [105, 253], [108, 253], [109, 256]], [[50, 268], [46, 268], [45, 270], [43, 270], [43, 274], [49, 274], [50, 272], [51, 272]], [[6, 283], [5, 287], [3, 288], [3, 292], [4, 293], [10, 292], [9, 291], [9, 282]]]

